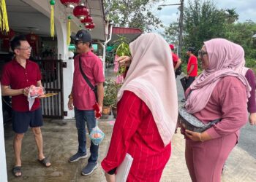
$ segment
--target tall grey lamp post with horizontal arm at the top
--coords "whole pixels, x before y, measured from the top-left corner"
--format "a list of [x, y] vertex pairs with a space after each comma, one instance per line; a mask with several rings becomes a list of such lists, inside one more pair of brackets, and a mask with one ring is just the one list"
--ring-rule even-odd
[[176, 5], [180, 5], [180, 17], [179, 17], [179, 23], [178, 23], [178, 50], [177, 50], [177, 54], [178, 54], [178, 57], [181, 58], [184, 0], [181, 0], [181, 3], [179, 3], [179, 4], [162, 4], [162, 5], [159, 5], [158, 7], [167, 7], [167, 6], [176, 6]]

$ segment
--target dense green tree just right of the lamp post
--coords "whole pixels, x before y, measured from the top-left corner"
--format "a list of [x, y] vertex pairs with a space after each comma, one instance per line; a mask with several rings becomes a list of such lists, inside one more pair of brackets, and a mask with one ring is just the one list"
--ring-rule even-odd
[[212, 1], [189, 1], [184, 8], [184, 46], [199, 50], [203, 41], [225, 37], [227, 15]]

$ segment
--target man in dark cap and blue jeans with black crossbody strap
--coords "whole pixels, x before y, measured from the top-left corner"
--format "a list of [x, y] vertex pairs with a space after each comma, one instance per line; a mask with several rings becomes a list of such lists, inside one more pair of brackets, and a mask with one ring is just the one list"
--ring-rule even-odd
[[[91, 130], [96, 126], [93, 106], [98, 98], [99, 110], [102, 111], [105, 81], [103, 75], [102, 61], [91, 52], [91, 35], [88, 31], [80, 30], [75, 36], [71, 36], [75, 41], [78, 55], [74, 58], [75, 71], [73, 76], [72, 91], [69, 95], [69, 110], [75, 110], [75, 122], [78, 129], [78, 152], [69, 158], [69, 162], [76, 162], [88, 157], [86, 151], [86, 126]], [[83, 71], [83, 72], [81, 72]], [[86, 81], [86, 77], [87, 81]], [[97, 86], [97, 93], [91, 87]], [[98, 167], [99, 146], [91, 142], [90, 153], [86, 167], [82, 170], [82, 175], [90, 175]]]

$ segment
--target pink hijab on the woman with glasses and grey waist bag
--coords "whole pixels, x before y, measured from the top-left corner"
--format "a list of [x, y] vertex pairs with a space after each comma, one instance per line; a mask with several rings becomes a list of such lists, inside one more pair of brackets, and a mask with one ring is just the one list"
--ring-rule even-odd
[[193, 91], [185, 107], [192, 114], [201, 111], [206, 106], [214, 87], [225, 76], [235, 76], [240, 79], [246, 86], [247, 98], [250, 96], [251, 87], [246, 78], [232, 69], [244, 61], [243, 48], [226, 39], [211, 39], [205, 41], [204, 44], [208, 53], [209, 66], [190, 86]]

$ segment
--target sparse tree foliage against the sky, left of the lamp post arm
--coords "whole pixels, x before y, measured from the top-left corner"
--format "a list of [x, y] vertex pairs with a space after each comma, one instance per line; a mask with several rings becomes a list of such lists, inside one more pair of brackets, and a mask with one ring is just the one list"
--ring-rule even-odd
[[159, 0], [111, 0], [105, 1], [105, 8], [111, 5], [108, 16], [116, 26], [140, 28], [151, 31], [162, 27], [152, 8]]

